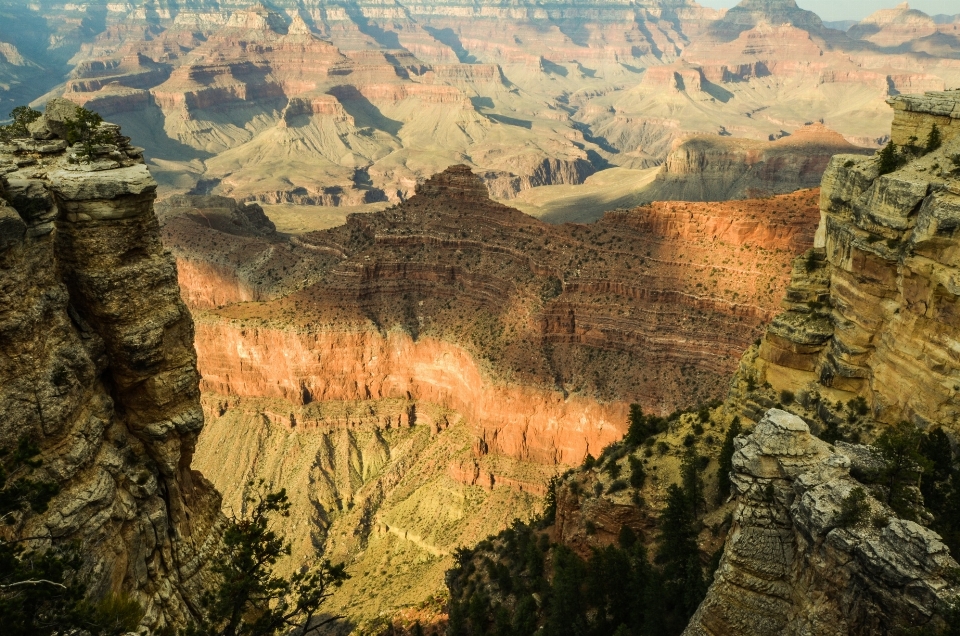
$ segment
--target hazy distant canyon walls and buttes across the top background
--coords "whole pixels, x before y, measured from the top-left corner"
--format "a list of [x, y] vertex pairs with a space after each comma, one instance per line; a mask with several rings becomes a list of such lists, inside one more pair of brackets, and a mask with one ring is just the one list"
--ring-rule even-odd
[[[0, 32], [4, 109], [64, 95], [146, 148], [161, 197], [262, 204], [396, 203], [453, 164], [510, 200], [659, 166], [692, 134], [719, 148], [705, 156], [740, 138], [751, 155], [819, 122], [876, 148], [889, 96], [960, 85], [960, 18], [907, 5], [846, 32], [793, 0], [3, 0], [0, 19], [17, 26]], [[790, 165], [767, 172], [804, 173]], [[817, 184], [826, 159], [811, 165], [790, 189]], [[784, 191], [758, 172], [759, 188], [656, 194]]]

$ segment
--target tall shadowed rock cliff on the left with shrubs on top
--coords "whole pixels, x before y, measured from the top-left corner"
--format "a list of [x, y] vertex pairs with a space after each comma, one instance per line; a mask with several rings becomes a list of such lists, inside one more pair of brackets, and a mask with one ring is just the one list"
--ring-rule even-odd
[[216, 545], [219, 496], [191, 470], [203, 426], [193, 323], [140, 151], [68, 149], [69, 102], [0, 148], [0, 441], [34, 437], [61, 492], [10, 532], [79, 541], [92, 593], [183, 624]]

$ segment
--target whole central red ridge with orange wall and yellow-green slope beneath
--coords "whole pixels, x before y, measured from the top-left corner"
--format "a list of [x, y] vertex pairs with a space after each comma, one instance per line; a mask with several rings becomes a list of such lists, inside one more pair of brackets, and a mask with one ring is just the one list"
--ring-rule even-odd
[[529, 519], [553, 475], [620, 439], [631, 402], [723, 395], [812, 245], [818, 196], [558, 226], [453, 166], [300, 234], [255, 203], [171, 197], [158, 216], [207, 418], [195, 464], [227, 509], [251, 479], [286, 487], [288, 567], [346, 559], [335, 602], [361, 626], [418, 607], [458, 546]]

